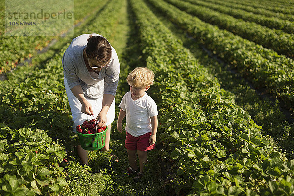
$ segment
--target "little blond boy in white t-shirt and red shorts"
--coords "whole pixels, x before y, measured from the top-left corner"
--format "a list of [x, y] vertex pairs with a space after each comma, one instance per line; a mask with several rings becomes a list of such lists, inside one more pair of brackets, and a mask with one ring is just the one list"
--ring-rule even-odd
[[126, 173], [135, 174], [137, 172], [137, 152], [140, 172], [137, 173], [134, 180], [139, 181], [143, 176], [147, 151], [154, 149], [156, 142], [157, 105], [146, 93], [153, 84], [154, 73], [147, 68], [137, 67], [129, 73], [126, 80], [130, 85], [130, 91], [123, 96], [119, 105], [121, 109], [117, 129], [122, 132], [122, 121], [126, 116], [125, 147], [130, 163]]

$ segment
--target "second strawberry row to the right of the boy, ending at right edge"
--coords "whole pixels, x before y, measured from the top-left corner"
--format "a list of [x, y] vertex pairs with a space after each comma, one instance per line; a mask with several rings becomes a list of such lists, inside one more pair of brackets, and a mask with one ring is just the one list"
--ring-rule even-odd
[[179, 27], [218, 57], [236, 68], [250, 80], [255, 88], [265, 88], [268, 93], [284, 100], [287, 108], [293, 108], [294, 61], [262, 46], [242, 39], [226, 30], [204, 23], [162, 0], [149, 0]]

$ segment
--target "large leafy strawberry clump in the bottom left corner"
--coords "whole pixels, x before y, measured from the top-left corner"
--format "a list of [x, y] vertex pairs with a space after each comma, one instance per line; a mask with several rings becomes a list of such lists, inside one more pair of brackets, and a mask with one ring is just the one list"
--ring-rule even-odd
[[66, 153], [46, 132], [0, 124], [1, 195], [41, 195], [67, 186], [59, 166]]

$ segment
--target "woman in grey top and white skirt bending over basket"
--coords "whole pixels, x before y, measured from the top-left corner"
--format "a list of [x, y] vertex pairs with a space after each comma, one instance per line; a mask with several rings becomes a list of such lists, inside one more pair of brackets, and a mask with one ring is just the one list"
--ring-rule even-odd
[[[76, 126], [94, 115], [98, 126], [108, 126], [103, 151], [109, 150], [111, 123], [115, 114], [115, 94], [120, 63], [115, 49], [99, 34], [84, 34], [73, 39], [63, 58], [66, 94]], [[88, 116], [91, 115], [91, 116]], [[81, 164], [88, 165], [88, 151], [77, 147]]]

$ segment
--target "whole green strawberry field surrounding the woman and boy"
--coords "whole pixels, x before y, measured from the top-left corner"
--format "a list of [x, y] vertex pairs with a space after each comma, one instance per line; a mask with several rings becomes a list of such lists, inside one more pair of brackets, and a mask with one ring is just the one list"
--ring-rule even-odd
[[[74, 0], [73, 37], [5, 36], [1, 12], [0, 195], [294, 195], [293, 10], [293, 0]], [[89, 166], [73, 147], [62, 69], [85, 33], [107, 38], [121, 65], [110, 151], [89, 151]], [[155, 73], [147, 94], [159, 110], [140, 182], [123, 174], [116, 130], [135, 67]]]

